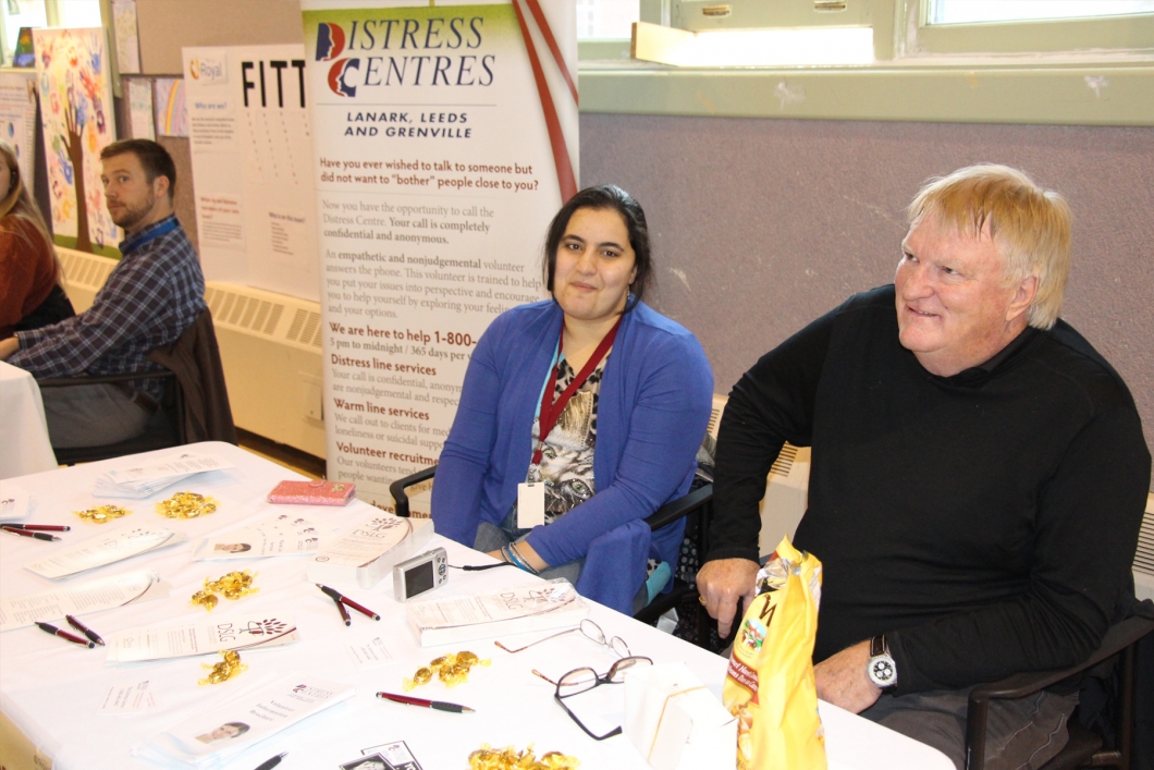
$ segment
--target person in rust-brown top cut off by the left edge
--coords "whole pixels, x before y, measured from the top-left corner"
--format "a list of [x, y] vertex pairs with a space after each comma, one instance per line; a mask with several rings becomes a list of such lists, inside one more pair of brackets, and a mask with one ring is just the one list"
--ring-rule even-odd
[[60, 285], [63, 272], [48, 227], [0, 142], [0, 339], [76, 315]]

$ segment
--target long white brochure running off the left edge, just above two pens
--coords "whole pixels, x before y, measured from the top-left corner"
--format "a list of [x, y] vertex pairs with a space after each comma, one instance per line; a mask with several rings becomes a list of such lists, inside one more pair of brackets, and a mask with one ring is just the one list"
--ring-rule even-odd
[[168, 596], [172, 586], [155, 569], [137, 569], [84, 581], [68, 588], [0, 598], [0, 631], [24, 628], [37, 621], [62, 620]]

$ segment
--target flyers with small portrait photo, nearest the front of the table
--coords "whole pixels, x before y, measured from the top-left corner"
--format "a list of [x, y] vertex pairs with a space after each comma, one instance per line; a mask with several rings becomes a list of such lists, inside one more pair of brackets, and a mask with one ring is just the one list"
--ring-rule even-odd
[[293, 672], [227, 695], [210, 708], [134, 745], [132, 750], [134, 755], [164, 767], [175, 761], [197, 770], [215, 770], [254, 743], [355, 694], [357, 688], [352, 685]]

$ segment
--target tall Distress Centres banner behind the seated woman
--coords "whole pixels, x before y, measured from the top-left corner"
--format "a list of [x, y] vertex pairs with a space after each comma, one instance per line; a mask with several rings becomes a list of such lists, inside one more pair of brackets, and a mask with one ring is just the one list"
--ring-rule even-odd
[[329, 478], [388, 508], [437, 462], [481, 334], [546, 296], [545, 230], [577, 190], [577, 43], [572, 0], [376, 5], [301, 2]]

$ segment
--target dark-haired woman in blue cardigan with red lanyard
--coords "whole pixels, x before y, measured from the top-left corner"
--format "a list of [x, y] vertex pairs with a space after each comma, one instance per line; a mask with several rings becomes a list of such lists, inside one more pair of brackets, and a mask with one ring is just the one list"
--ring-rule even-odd
[[689, 489], [713, 374], [694, 335], [642, 301], [649, 230], [628, 193], [575, 195], [544, 256], [553, 299], [503, 313], [470, 360], [433, 521], [628, 613], [647, 600], [646, 558], [676, 563], [684, 522], [650, 541], [640, 519]]

